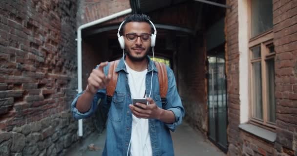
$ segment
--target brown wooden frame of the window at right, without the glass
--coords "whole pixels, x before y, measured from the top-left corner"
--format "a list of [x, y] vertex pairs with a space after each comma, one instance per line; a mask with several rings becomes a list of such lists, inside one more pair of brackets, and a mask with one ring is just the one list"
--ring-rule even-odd
[[[266, 30], [265, 32], [251, 38], [252, 36], [252, 26], [251, 26], [251, 0], [248, 0], [248, 63], [249, 63], [249, 121], [252, 124], [255, 124], [259, 127], [268, 129], [270, 131], [276, 131], [276, 123], [268, 121], [268, 96], [267, 87], [268, 87], [268, 65], [266, 60], [273, 59], [275, 60], [276, 53], [269, 53], [269, 46], [274, 43], [274, 31], [273, 28]], [[252, 48], [260, 46], [260, 59], [252, 59]], [[253, 91], [254, 91], [254, 71], [253, 71], [253, 62], [259, 61], [261, 62], [261, 83], [262, 83], [262, 115], [263, 119], [256, 118], [254, 116], [254, 107], [255, 104], [253, 103]]]

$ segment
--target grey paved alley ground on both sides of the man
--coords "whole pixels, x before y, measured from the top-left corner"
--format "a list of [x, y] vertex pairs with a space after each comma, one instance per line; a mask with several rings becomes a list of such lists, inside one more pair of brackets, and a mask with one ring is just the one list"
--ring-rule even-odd
[[[101, 135], [93, 133], [76, 144], [66, 156], [101, 156], [105, 138], [106, 131]], [[172, 133], [172, 139], [175, 156], [226, 156], [187, 123], [178, 126]]]

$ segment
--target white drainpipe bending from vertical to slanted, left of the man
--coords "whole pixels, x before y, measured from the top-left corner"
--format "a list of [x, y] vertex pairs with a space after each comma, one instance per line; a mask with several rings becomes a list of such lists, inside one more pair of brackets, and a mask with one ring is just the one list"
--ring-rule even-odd
[[[81, 93], [83, 91], [83, 85], [82, 85], [82, 30], [89, 27], [93, 26], [102, 22], [105, 22], [107, 20], [112, 20], [117, 17], [129, 14], [132, 12], [132, 9], [127, 9], [112, 15], [109, 15], [105, 18], [101, 18], [98, 20], [94, 20], [92, 22], [86, 23], [84, 25], [81, 25], [77, 29], [77, 83], [78, 83], [78, 93]], [[83, 119], [78, 120], [78, 136], [82, 137], [83, 136]]]

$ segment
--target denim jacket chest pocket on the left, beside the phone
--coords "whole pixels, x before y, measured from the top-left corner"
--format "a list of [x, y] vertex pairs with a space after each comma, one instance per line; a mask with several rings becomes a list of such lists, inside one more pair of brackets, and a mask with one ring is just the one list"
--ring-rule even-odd
[[122, 120], [124, 108], [124, 97], [112, 97], [109, 118], [113, 122], [120, 122]]

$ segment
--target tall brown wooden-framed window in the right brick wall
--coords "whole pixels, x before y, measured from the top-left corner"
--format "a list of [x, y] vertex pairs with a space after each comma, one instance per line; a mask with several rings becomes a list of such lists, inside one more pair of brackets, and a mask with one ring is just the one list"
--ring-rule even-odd
[[274, 128], [276, 122], [275, 51], [272, 0], [250, 0], [251, 122]]

